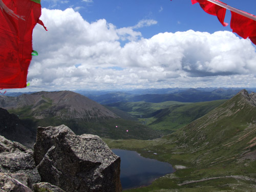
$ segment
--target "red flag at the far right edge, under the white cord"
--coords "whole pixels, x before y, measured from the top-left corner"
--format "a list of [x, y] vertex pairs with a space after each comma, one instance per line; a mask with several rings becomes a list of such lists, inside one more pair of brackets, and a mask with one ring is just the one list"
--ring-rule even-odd
[[[248, 13], [249, 14], [249, 13]], [[254, 16], [254, 15], [253, 15]], [[249, 39], [256, 45], [256, 21], [231, 11], [230, 28], [234, 33]]]

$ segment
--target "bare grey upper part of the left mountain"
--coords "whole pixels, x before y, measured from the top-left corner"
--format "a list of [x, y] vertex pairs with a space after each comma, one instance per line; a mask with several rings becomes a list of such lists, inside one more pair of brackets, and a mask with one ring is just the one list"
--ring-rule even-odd
[[0, 99], [0, 107], [5, 109], [29, 108], [26, 115], [36, 119], [47, 117], [87, 120], [118, 118], [101, 104], [72, 91], [41, 91], [30, 95], [3, 98]]

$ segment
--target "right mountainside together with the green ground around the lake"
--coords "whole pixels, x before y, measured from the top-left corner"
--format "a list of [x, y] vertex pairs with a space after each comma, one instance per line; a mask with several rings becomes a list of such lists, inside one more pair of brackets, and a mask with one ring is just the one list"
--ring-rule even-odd
[[161, 139], [105, 141], [177, 167], [150, 186], [127, 191], [255, 191], [256, 95], [245, 90]]

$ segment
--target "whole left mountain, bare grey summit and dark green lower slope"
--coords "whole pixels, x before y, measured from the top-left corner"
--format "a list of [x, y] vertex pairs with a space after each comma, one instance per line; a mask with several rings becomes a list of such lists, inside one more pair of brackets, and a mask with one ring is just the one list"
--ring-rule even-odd
[[71, 91], [0, 96], [0, 108], [17, 115], [30, 130], [66, 124], [77, 135], [87, 133], [113, 139], [160, 137], [160, 133], [137, 120], [123, 119], [103, 105]]

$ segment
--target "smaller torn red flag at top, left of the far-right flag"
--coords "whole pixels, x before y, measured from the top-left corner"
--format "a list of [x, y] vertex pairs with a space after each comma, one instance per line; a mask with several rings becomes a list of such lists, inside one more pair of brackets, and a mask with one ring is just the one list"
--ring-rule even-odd
[[[216, 0], [218, 1], [218, 0]], [[213, 4], [211, 2], [208, 2], [206, 0], [191, 0], [192, 4], [199, 3], [201, 8], [208, 14], [215, 15], [218, 17], [220, 23], [226, 27], [228, 24], [224, 22], [225, 15], [226, 15], [226, 9], [223, 7], [220, 7], [216, 4]], [[220, 1], [218, 1], [220, 2]], [[222, 3], [222, 2], [221, 2]], [[223, 3], [224, 4], [224, 3]], [[226, 5], [226, 4], [225, 4]]]

